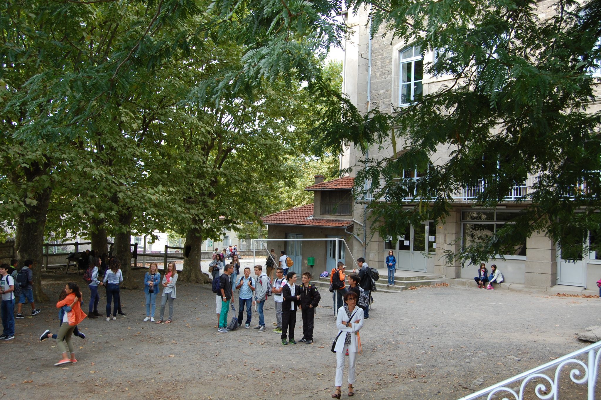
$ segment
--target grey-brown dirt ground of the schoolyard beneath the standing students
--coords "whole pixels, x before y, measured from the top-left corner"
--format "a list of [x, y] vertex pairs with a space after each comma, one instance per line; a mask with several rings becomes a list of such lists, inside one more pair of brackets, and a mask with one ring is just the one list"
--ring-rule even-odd
[[[144, 271], [136, 274], [141, 283]], [[87, 310], [89, 291], [76, 274], [46, 274], [44, 290], [56, 298], [69, 280], [82, 286]], [[63, 368], [53, 366], [59, 359], [55, 340], [39, 340], [46, 328], [58, 331], [55, 303], [40, 304], [39, 315], [16, 320], [16, 339], [0, 343], [0, 398], [330, 398], [335, 371], [330, 347], [337, 331], [329, 292], [321, 292], [316, 310], [316, 341], [282, 346], [271, 331], [272, 298], [265, 307], [266, 332], [242, 328], [221, 334], [214, 328], [210, 286], [177, 288], [168, 325], [142, 322], [142, 289], [121, 291], [127, 316], [85, 319], [80, 329], [86, 339], [73, 339], [79, 363]], [[104, 291], [100, 295], [104, 313]], [[600, 324], [601, 300], [592, 298], [427, 287], [376, 293], [374, 299], [361, 330], [358, 399], [457, 399], [586, 346], [575, 333]], [[252, 322], [257, 321], [254, 313]], [[296, 339], [301, 325], [299, 313]]]

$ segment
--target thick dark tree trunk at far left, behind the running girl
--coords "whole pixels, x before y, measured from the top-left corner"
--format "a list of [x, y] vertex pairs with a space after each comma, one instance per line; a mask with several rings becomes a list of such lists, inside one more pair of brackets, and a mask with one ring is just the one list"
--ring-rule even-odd
[[14, 240], [14, 250], [19, 260], [32, 260], [34, 262], [34, 300], [48, 301], [47, 295], [41, 289], [41, 269], [44, 262], [44, 228], [46, 227], [46, 216], [50, 205], [51, 188], [43, 189], [35, 195], [37, 203], [29, 205], [26, 211], [19, 215], [17, 231]]

